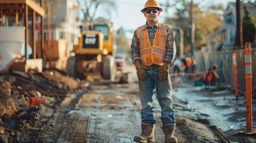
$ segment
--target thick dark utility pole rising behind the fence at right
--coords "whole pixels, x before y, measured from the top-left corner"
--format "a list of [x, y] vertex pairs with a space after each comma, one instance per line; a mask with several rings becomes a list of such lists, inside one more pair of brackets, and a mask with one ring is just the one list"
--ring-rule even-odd
[[238, 49], [243, 48], [242, 14], [240, 0], [236, 0], [236, 45]]

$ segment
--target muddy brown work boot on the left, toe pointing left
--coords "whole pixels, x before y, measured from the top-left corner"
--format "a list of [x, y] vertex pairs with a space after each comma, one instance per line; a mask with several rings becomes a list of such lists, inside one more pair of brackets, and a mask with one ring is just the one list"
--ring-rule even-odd
[[141, 135], [134, 136], [135, 142], [155, 142], [155, 125], [141, 123]]

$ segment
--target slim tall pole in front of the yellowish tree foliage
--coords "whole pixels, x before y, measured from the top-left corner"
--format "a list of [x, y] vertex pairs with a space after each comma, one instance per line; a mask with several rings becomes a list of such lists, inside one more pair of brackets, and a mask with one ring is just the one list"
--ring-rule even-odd
[[191, 0], [191, 55], [193, 56], [193, 50], [195, 45], [195, 7], [193, 0]]

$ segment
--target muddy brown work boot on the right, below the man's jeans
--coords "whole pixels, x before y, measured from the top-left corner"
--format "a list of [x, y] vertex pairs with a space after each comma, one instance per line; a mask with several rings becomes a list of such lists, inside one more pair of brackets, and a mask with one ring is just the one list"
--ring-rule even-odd
[[162, 125], [165, 134], [165, 143], [177, 143], [178, 139], [174, 136], [175, 123]]

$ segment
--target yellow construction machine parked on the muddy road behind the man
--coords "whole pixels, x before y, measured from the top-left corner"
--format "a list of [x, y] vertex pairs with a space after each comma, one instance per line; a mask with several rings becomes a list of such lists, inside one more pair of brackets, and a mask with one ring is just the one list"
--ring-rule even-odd
[[67, 73], [84, 79], [91, 74], [101, 74], [104, 79], [115, 79], [116, 45], [113, 39], [113, 24], [97, 18], [82, 30], [79, 44], [73, 46], [75, 56], [67, 60]]

